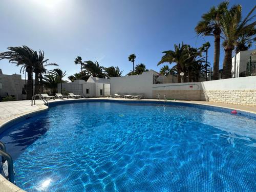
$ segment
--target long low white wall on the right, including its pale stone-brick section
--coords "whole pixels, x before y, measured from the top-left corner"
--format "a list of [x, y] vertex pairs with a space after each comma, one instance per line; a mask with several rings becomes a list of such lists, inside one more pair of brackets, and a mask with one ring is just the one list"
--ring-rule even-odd
[[153, 84], [153, 98], [202, 100], [256, 106], [256, 76], [191, 83]]

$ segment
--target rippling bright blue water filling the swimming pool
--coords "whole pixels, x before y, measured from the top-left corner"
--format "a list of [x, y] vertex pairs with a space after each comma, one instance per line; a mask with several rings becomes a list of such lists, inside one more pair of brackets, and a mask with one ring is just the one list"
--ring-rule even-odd
[[27, 191], [256, 191], [256, 120], [199, 106], [61, 104], [0, 140]]

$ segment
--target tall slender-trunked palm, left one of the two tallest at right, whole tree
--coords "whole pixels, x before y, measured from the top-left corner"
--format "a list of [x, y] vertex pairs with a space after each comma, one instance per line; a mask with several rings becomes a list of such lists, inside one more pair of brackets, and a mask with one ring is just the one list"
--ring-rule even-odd
[[202, 15], [195, 31], [198, 35], [214, 36], [214, 80], [219, 79], [221, 17], [227, 10], [228, 2], [222, 2], [217, 7], [212, 7]]

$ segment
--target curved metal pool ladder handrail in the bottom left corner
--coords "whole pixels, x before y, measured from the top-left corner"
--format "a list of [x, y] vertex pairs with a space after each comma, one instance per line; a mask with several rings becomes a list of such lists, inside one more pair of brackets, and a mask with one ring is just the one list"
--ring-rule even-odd
[[15, 184], [14, 181], [14, 169], [13, 169], [13, 160], [10, 154], [6, 152], [6, 147], [3, 142], [0, 141], [0, 155], [2, 156], [2, 164], [7, 161], [8, 165], [8, 176], [6, 179], [8, 179], [10, 182]]

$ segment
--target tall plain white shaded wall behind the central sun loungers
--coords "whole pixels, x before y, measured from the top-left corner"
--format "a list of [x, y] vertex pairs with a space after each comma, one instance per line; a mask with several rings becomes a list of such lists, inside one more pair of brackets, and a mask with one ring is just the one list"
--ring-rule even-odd
[[110, 78], [111, 94], [140, 94], [152, 98], [153, 73]]

